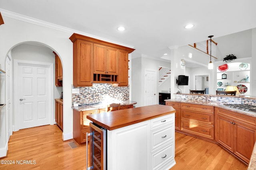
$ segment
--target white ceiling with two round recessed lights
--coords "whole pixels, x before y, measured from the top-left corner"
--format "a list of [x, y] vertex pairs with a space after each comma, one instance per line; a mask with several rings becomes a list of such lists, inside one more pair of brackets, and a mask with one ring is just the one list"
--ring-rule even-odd
[[[208, 35], [255, 28], [255, 6], [255, 0], [0, 0], [3, 16], [10, 11], [47, 21], [134, 47], [133, 57], [150, 58]], [[194, 27], [185, 29], [188, 23]]]

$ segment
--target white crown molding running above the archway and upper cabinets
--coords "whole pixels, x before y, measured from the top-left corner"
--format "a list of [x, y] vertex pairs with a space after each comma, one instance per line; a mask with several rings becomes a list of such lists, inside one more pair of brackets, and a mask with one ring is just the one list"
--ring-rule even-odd
[[75, 29], [71, 29], [71, 28], [68, 28], [68, 27], [63, 27], [63, 26], [60, 26], [60, 25], [56, 25], [54, 23], [38, 20], [36, 18], [31, 18], [31, 17], [24, 16], [24, 15], [15, 13], [15, 12], [4, 10], [4, 9], [1, 9], [1, 8], [0, 8], [0, 11], [1, 11], [2, 16], [12, 18], [12, 19], [15, 19], [15, 20], [20, 20], [20, 21], [32, 23], [32, 24], [35, 24], [35, 25], [40, 25], [40, 26], [47, 27], [47, 28], [50, 28], [50, 29], [55, 29], [55, 30], [58, 30], [58, 31], [62, 31], [62, 32], [65, 32], [65, 33], [70, 33], [70, 34], [78, 33], [78, 34], [85, 35], [85, 36], [88, 36], [88, 37], [92, 37], [92, 38], [95, 38], [95, 39], [100, 39], [102, 41], [107, 41], [109, 43], [114, 43], [114, 44], [122, 45], [122, 46], [125, 46], [125, 47], [134, 48], [134, 46], [131, 46], [131, 45], [127, 45], [127, 44], [124, 44], [124, 43], [112, 41], [110, 39], [105, 39], [105, 38], [98, 37], [98, 36], [95, 36], [95, 35], [92, 35], [92, 34], [77, 31]]

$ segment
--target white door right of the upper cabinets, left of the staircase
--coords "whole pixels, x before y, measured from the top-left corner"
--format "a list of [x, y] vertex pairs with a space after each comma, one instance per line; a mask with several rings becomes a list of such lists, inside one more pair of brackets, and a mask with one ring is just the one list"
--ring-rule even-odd
[[144, 106], [156, 104], [156, 71], [145, 70]]

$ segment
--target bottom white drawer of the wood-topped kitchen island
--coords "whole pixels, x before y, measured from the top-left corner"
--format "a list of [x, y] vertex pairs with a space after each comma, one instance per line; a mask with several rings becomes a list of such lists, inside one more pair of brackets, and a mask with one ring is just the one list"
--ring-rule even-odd
[[165, 162], [170, 162], [174, 158], [174, 141], [164, 148], [158, 149], [151, 154], [151, 169], [161, 170]]

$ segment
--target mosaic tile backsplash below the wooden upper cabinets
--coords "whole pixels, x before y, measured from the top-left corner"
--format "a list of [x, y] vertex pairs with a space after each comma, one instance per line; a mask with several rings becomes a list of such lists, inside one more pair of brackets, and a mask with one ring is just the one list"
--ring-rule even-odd
[[[74, 87], [72, 87], [74, 88]], [[105, 102], [121, 102], [129, 100], [129, 86], [113, 87], [112, 84], [96, 84], [80, 88], [79, 94], [72, 94], [72, 104], [98, 104]]]

